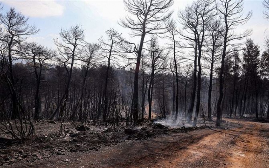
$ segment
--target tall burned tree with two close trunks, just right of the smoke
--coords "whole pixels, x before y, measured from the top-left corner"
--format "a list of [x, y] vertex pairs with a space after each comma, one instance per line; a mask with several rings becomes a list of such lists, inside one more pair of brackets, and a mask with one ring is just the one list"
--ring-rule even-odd
[[[212, 0], [195, 1], [191, 6], [185, 8], [184, 11], [178, 13], [180, 23], [183, 25], [183, 29], [187, 33], [179, 32], [183, 40], [188, 41], [188, 45], [184, 47], [194, 49], [194, 74], [193, 74], [193, 88], [191, 103], [187, 113], [187, 121], [191, 122], [192, 111], [195, 101], [196, 85], [197, 87], [197, 103], [195, 109], [195, 116], [193, 126], [196, 126], [197, 116], [200, 108], [200, 91], [201, 91], [201, 56], [203, 43], [207, 31], [207, 25], [213, 19], [214, 11], [212, 7]], [[197, 64], [198, 64], [198, 76], [197, 76]]]

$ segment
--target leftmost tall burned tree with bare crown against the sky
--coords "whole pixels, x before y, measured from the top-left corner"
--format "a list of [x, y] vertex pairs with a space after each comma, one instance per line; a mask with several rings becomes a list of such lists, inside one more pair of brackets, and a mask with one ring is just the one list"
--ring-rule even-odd
[[27, 23], [28, 18], [25, 18], [22, 13], [16, 13], [14, 8], [10, 8], [5, 15], [1, 14], [0, 21], [4, 26], [4, 32], [0, 40], [2, 43], [7, 44], [7, 53], [5, 53], [5, 55], [7, 56], [8, 73], [4, 74], [10, 86], [12, 98], [12, 112], [10, 116], [14, 119], [19, 117], [19, 111], [23, 110], [23, 107], [19, 102], [16, 89], [14, 88], [13, 60], [19, 56], [19, 46], [26, 40], [26, 37], [37, 33], [39, 30], [37, 30], [36, 27], [30, 26]]

